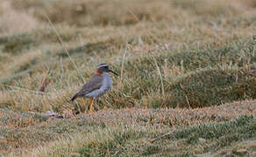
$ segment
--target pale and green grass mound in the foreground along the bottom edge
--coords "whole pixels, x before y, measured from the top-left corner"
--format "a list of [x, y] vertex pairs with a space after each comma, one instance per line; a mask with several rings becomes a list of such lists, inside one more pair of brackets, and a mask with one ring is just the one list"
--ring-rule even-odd
[[[153, 140], [166, 129], [134, 127], [126, 125], [108, 126], [95, 132], [79, 133], [68, 139], [51, 142], [39, 147], [29, 156], [70, 156], [70, 155], [152, 155], [152, 154], [200, 154], [219, 147], [228, 147], [239, 139], [252, 139], [255, 135], [255, 119], [250, 116], [219, 124], [205, 124], [181, 128], [168, 133], [159, 140]], [[97, 128], [97, 127], [96, 127]], [[207, 142], [206, 142], [207, 140]], [[180, 146], [180, 147], [178, 147]], [[186, 147], [181, 147], [186, 146]]]

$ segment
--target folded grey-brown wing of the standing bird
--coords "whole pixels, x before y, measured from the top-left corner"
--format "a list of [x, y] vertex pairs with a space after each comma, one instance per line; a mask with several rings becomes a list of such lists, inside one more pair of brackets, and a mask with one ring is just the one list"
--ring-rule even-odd
[[103, 77], [95, 75], [93, 78], [90, 78], [89, 81], [82, 86], [80, 92], [77, 92], [77, 97], [82, 97], [89, 92], [93, 92], [99, 89], [102, 85]]

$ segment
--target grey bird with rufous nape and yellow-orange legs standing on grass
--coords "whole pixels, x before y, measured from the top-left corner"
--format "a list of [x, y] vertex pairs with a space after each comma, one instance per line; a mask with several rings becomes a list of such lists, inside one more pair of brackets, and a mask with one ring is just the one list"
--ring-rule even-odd
[[95, 99], [110, 91], [112, 79], [108, 72], [112, 72], [118, 76], [117, 72], [112, 71], [109, 65], [105, 63], [97, 65], [95, 75], [82, 86], [82, 89], [70, 101], [73, 102], [75, 99], [81, 97], [91, 99], [88, 113], [93, 113], [92, 107]]

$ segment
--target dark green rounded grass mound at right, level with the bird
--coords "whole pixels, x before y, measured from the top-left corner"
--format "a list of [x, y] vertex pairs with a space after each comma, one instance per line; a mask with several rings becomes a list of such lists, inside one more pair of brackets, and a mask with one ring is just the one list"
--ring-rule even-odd
[[[255, 65], [254, 65], [255, 66]], [[170, 85], [172, 106], [215, 106], [242, 99], [256, 99], [256, 79], [252, 68], [206, 69], [186, 75]]]

